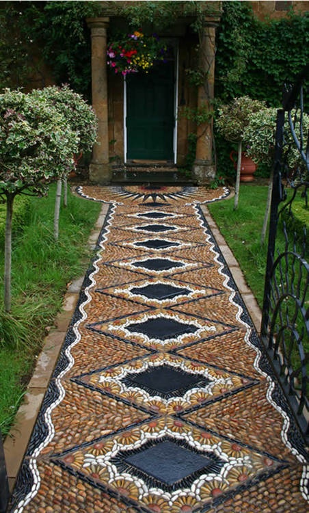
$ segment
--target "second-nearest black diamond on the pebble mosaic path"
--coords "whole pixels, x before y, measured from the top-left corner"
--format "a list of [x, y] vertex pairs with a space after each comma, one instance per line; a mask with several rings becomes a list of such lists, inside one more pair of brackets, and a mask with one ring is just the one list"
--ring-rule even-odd
[[143, 372], [129, 373], [122, 382], [126, 386], [139, 386], [150, 395], [170, 399], [170, 397], [182, 397], [193, 387], [206, 386], [210, 380], [200, 374], [189, 373], [177, 367], [160, 365]]

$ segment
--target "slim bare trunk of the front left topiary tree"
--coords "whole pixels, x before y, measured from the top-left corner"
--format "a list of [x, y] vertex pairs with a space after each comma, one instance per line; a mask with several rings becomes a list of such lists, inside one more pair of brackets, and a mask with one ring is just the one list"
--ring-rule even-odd
[[6, 198], [5, 245], [4, 245], [4, 308], [11, 311], [11, 272], [12, 272], [12, 218], [14, 196]]

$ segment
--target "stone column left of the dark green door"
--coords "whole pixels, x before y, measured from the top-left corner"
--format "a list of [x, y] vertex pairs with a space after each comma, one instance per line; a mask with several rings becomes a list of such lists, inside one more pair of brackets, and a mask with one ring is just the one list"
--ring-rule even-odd
[[98, 117], [98, 137], [92, 151], [90, 181], [107, 184], [111, 181], [109, 166], [107, 105], [107, 27], [109, 18], [88, 18], [91, 29], [92, 107]]

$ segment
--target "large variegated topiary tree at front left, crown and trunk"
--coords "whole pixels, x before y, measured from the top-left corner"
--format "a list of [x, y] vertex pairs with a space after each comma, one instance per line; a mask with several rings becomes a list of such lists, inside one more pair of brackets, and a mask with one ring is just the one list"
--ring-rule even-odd
[[4, 306], [11, 309], [12, 215], [18, 194], [42, 196], [75, 166], [77, 133], [60, 112], [21, 91], [0, 94], [0, 198], [6, 202]]

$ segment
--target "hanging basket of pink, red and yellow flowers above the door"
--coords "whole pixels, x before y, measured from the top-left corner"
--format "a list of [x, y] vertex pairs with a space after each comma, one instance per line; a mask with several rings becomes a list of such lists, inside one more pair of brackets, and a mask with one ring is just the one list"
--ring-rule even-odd
[[107, 49], [107, 65], [124, 76], [139, 71], [148, 73], [155, 62], [166, 62], [166, 57], [167, 46], [157, 34], [145, 36], [142, 31], [110, 42]]

